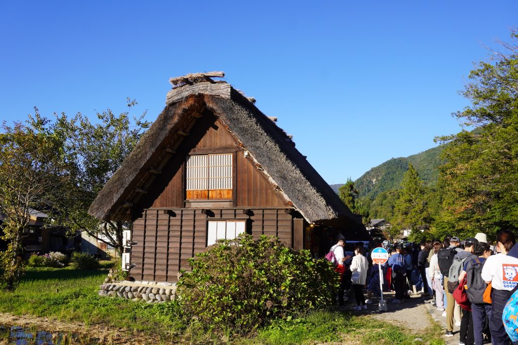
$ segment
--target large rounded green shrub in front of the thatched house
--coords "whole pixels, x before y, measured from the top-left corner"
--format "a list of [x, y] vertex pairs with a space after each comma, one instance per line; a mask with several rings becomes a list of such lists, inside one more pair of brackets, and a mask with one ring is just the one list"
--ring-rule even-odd
[[178, 283], [183, 316], [210, 328], [249, 332], [332, 302], [338, 275], [325, 259], [276, 237], [223, 240], [191, 259]]

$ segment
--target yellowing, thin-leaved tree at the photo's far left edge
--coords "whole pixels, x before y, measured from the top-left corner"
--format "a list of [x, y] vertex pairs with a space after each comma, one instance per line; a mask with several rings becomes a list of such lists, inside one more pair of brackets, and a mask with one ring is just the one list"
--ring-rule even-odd
[[[65, 150], [66, 119], [51, 123], [35, 116], [26, 123], [2, 125], [0, 133], [0, 213], [2, 239], [7, 250], [0, 253], [0, 285], [13, 291], [23, 274], [24, 229], [37, 211], [57, 217], [57, 206], [70, 197], [74, 164]], [[52, 224], [48, 224], [48, 227]]]

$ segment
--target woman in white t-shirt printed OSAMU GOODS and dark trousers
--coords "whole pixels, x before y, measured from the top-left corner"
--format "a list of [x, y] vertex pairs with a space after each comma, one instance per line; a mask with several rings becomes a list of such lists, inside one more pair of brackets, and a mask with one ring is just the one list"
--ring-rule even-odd
[[482, 267], [482, 279], [492, 284], [492, 305], [489, 326], [493, 344], [508, 344], [509, 336], [502, 322], [502, 312], [511, 290], [518, 284], [518, 259], [508, 256], [516, 242], [510, 230], [500, 230], [496, 235], [499, 254], [487, 258]]

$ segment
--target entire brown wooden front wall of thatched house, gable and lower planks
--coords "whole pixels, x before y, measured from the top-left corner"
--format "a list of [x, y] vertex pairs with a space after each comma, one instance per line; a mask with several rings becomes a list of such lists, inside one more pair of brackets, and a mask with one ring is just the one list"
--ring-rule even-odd
[[[191, 131], [186, 140], [192, 142], [178, 151], [146, 194], [142, 214], [134, 221], [132, 232], [137, 244], [132, 247], [130, 261], [136, 266], [130, 274], [137, 280], [177, 282], [180, 269], [189, 270], [189, 259], [206, 248], [209, 220], [246, 219], [246, 231], [254, 238], [261, 234], [278, 236], [295, 249], [303, 248], [303, 220], [285, 213], [284, 198], [274, 190], [264, 172], [257, 169], [251, 157], [244, 156], [218, 119], [211, 121]], [[232, 189], [210, 191], [227, 201], [192, 202], [190, 198], [204, 199], [193, 193], [207, 191], [185, 190], [188, 154], [217, 153], [233, 154]], [[209, 214], [202, 213], [202, 208], [209, 209]]]

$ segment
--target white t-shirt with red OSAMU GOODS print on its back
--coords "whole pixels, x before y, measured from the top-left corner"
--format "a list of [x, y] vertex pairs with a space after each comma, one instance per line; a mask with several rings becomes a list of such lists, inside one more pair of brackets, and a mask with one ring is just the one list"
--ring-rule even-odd
[[487, 258], [482, 279], [491, 281], [493, 289], [511, 291], [518, 284], [518, 259], [504, 254]]

